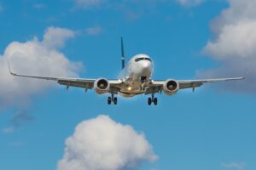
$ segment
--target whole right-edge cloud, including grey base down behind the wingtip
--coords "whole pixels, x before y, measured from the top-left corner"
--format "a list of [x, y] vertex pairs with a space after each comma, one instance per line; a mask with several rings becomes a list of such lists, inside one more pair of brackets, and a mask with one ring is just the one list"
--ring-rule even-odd
[[228, 88], [255, 93], [256, 1], [228, 0], [228, 2], [230, 7], [224, 9], [212, 21], [214, 37], [204, 48], [204, 53], [216, 59], [220, 67], [200, 74], [204, 77], [246, 76], [245, 82], [234, 82]]

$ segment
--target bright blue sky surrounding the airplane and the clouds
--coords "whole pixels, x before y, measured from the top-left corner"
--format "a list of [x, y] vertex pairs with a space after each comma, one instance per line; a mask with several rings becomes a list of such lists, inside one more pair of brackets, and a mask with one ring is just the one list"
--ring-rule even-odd
[[[223, 10], [236, 11], [237, 0], [209, 0], [196, 4], [189, 1], [88, 2], [0, 1], [0, 62], [3, 62], [1, 57], [7, 56], [4, 51], [11, 42], [24, 43], [32, 41], [33, 37], [38, 37], [38, 43], [44, 42], [45, 32], [54, 27], [74, 33], [65, 38], [65, 45], [55, 48], [70, 63], [80, 62], [76, 63], [79, 71], [64, 72], [65, 75], [117, 77], [121, 66], [120, 36], [125, 38], [127, 59], [141, 53], [151, 56], [155, 79], [241, 76], [239, 71], [241, 74], [245, 70], [254, 71], [250, 65], [247, 69], [242, 67], [247, 62], [256, 63], [251, 57], [253, 49], [242, 59], [237, 44], [233, 44], [233, 48], [224, 46], [230, 49], [226, 53], [219, 49], [224, 42], [218, 37], [225, 37], [221, 28], [230, 28], [223, 23], [238, 26], [221, 13]], [[255, 5], [250, 0], [245, 3]], [[254, 16], [253, 13], [241, 15], [244, 18], [237, 20]], [[223, 20], [226, 22], [221, 22]], [[234, 39], [247, 44], [243, 41], [248, 38], [236, 39], [234, 35]], [[248, 43], [253, 44], [255, 39]], [[209, 43], [213, 48], [207, 46]], [[236, 58], [231, 59], [230, 55]], [[55, 64], [51, 66], [58, 67]], [[30, 67], [25, 59], [15, 65]], [[253, 73], [248, 77], [253, 77]], [[0, 77], [0, 84], [4, 84], [4, 77], [2, 79]], [[65, 139], [73, 135], [80, 122], [99, 115], [108, 115], [114, 122], [131, 125], [138, 133], [144, 133], [158, 159], [145, 161], [138, 169], [256, 168], [253, 78], [248, 80], [253, 83], [250, 86], [245, 83], [214, 84], [196, 89], [194, 94], [184, 90], [174, 96], [157, 95], [159, 105], [154, 107], [148, 107], [147, 96], [119, 98], [119, 105], [114, 106], [107, 105], [108, 95], [96, 95], [93, 91], [84, 94], [83, 89], [77, 88], [66, 91], [57, 84], [35, 88], [28, 93], [25, 88], [32, 87], [31, 82], [22, 82], [27, 84], [22, 89], [17, 88], [24, 90], [21, 97], [19, 93], [16, 97], [13, 89], [0, 90], [3, 102], [0, 105], [0, 169], [56, 169], [64, 154]], [[7, 96], [12, 99], [6, 103]]]

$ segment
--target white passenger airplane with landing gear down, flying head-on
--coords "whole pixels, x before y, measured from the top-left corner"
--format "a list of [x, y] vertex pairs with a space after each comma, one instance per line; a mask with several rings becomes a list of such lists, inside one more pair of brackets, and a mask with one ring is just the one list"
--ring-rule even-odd
[[[117, 105], [118, 99], [115, 95], [120, 95], [125, 98], [131, 98], [138, 94], [148, 94], [148, 105], [157, 105], [158, 99], [154, 97], [155, 94], [164, 92], [167, 95], [177, 94], [181, 89], [201, 87], [201, 85], [208, 82], [224, 82], [233, 80], [242, 80], [245, 77], [233, 78], [215, 78], [215, 79], [200, 79], [200, 80], [153, 80], [154, 63], [147, 54], [137, 54], [133, 56], [129, 62], [125, 63], [125, 50], [123, 37], [121, 41], [121, 64], [122, 71], [118, 79], [110, 80], [106, 78], [86, 79], [86, 78], [70, 78], [70, 77], [41, 77], [32, 75], [22, 75], [11, 71], [9, 66], [9, 73], [15, 77], [28, 77], [55, 81], [60, 85], [67, 87], [84, 88], [85, 92], [88, 89], [94, 89], [96, 94], [110, 94], [108, 97], [108, 105], [112, 103]], [[9, 62], [8, 62], [9, 65]]]

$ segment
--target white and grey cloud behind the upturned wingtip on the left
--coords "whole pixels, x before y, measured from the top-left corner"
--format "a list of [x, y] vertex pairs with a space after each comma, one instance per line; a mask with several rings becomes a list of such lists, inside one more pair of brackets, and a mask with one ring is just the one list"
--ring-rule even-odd
[[9, 43], [0, 54], [0, 108], [26, 104], [32, 95], [41, 94], [53, 85], [48, 81], [10, 76], [8, 59], [12, 70], [22, 74], [78, 77], [81, 64], [70, 61], [59, 50], [71, 37], [74, 37], [73, 31], [49, 27], [43, 41], [34, 37], [27, 42]]

